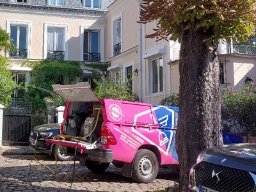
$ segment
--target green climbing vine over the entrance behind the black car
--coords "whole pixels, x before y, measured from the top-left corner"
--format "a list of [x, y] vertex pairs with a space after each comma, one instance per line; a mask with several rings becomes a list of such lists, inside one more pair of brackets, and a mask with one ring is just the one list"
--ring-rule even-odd
[[[26, 65], [32, 68], [31, 83], [24, 86], [27, 91], [22, 100], [33, 103], [33, 122], [39, 125], [45, 123], [45, 114], [47, 113], [47, 105], [56, 104], [56, 107], [62, 106], [64, 100], [58, 97], [52, 90], [52, 84], [63, 84], [70, 79], [76, 79], [83, 75], [83, 71], [76, 61], [26, 61]], [[24, 63], [24, 65], [25, 65]]]

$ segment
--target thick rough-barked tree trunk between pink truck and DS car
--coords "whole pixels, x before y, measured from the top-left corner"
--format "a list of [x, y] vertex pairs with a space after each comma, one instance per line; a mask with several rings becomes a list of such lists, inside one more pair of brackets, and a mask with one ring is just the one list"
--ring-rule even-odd
[[210, 33], [189, 29], [180, 40], [180, 100], [176, 136], [180, 191], [189, 191], [189, 170], [199, 152], [222, 145], [217, 47], [203, 40]]

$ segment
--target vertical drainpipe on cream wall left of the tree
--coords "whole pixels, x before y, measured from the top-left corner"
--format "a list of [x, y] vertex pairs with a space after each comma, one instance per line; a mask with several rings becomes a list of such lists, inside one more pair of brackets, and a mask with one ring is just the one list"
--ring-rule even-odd
[[[143, 0], [136, 0], [139, 4], [139, 9], [138, 9], [138, 17], [139, 17], [139, 20], [140, 20], [140, 9], [141, 9], [141, 4], [143, 2]], [[139, 23], [139, 26], [138, 26], [138, 65], [139, 65], [139, 71], [138, 71], [138, 76], [139, 76], [139, 100], [140, 102], [144, 102], [143, 100], [143, 86], [142, 86], [142, 81], [143, 81], [143, 78], [142, 78], [142, 24]]]

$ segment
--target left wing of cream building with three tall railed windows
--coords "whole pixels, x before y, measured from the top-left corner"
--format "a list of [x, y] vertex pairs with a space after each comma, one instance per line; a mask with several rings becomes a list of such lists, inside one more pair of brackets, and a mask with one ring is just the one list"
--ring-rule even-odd
[[[111, 2], [1, 0], [0, 26], [17, 47], [2, 55], [12, 61], [16, 84], [31, 81], [31, 68], [22, 65], [26, 60], [104, 62], [106, 12]], [[92, 74], [81, 67], [84, 81], [90, 81]], [[19, 97], [17, 92], [14, 97]]]

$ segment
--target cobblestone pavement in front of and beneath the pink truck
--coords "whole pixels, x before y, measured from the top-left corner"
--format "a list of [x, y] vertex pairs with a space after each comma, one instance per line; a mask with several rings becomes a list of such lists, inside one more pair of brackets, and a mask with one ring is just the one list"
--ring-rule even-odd
[[[41, 164], [40, 164], [41, 163]], [[38, 154], [29, 147], [0, 148], [0, 191], [160, 191], [178, 182], [177, 170], [161, 168], [150, 184], [133, 182], [111, 164], [104, 173], [90, 172], [78, 161], [55, 161], [53, 156]]]

